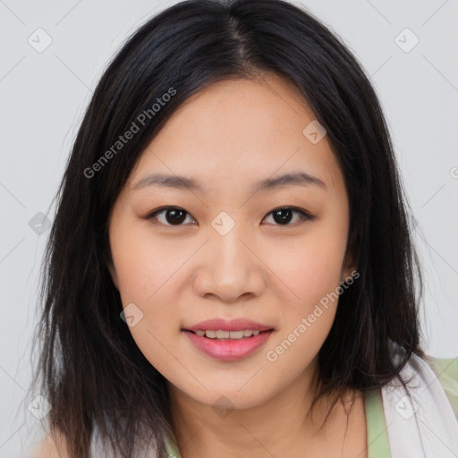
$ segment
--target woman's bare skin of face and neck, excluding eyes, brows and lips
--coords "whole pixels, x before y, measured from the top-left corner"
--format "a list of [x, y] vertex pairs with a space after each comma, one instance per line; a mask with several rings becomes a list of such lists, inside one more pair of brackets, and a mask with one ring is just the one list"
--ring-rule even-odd
[[[327, 136], [313, 144], [302, 134], [314, 119], [292, 84], [276, 75], [212, 84], [169, 119], [115, 202], [110, 272], [123, 307], [133, 302], [143, 313], [129, 329], [168, 381], [183, 458], [248, 451], [259, 457], [366, 456], [361, 394], [348, 398], [348, 418], [338, 404], [319, 431], [328, 399], [308, 415], [318, 351], [337, 301], [276, 361], [267, 360], [267, 352], [354, 270], [345, 257], [344, 176]], [[297, 171], [318, 177], [326, 189], [252, 190], [259, 180]], [[192, 177], [203, 189], [134, 189], [151, 173]], [[184, 209], [181, 225], [166, 211], [147, 218], [162, 206]], [[282, 225], [272, 211], [283, 206], [314, 217], [301, 221], [293, 213]], [[222, 211], [235, 224], [225, 235], [212, 226]], [[208, 318], [249, 318], [275, 331], [242, 360], [216, 360], [181, 331]], [[223, 417], [214, 407], [230, 409]]]

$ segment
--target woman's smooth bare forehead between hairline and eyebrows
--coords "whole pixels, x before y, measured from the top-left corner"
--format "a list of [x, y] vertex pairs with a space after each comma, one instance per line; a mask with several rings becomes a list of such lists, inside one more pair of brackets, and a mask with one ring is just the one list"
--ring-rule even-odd
[[188, 176], [204, 191], [252, 188], [261, 178], [303, 172], [335, 185], [342, 179], [325, 135], [310, 141], [314, 114], [289, 81], [218, 81], [175, 110], [145, 149], [129, 187], [146, 174]]

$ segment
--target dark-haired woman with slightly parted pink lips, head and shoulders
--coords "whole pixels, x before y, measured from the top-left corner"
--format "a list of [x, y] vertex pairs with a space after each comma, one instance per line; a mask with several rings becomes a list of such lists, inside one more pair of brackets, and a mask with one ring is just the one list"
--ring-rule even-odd
[[421, 349], [384, 116], [310, 13], [191, 0], [152, 18], [98, 83], [58, 197], [48, 454], [458, 453], [456, 360]]

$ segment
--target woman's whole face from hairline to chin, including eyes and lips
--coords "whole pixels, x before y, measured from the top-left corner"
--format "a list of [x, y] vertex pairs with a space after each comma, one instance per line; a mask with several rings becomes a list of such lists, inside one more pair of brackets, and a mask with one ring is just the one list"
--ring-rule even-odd
[[344, 177], [313, 120], [275, 75], [217, 82], [174, 113], [115, 202], [110, 272], [131, 335], [199, 403], [253, 407], [315, 370], [352, 267]]

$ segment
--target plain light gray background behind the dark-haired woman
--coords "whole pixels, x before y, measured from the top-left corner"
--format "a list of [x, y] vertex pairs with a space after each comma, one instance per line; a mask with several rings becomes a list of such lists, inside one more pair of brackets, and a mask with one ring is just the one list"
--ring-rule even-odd
[[[38, 440], [28, 410], [30, 336], [47, 213], [72, 140], [109, 58], [141, 23], [175, 1], [0, 0], [0, 456]], [[428, 353], [458, 355], [458, 1], [303, 0], [371, 75], [386, 112], [425, 270]], [[28, 43], [42, 28], [52, 44]], [[404, 52], [409, 28], [420, 43]], [[404, 38], [405, 36], [405, 38]], [[38, 38], [35, 38], [37, 41]], [[399, 40], [409, 47], [412, 37]], [[43, 43], [43, 36], [40, 39]], [[49, 213], [52, 219], [52, 212]]]

